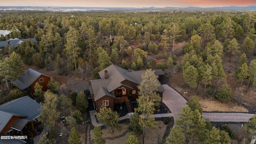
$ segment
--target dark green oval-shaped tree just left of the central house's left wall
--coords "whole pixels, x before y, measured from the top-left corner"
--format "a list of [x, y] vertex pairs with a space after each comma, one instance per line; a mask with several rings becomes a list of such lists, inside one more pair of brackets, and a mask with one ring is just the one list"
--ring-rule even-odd
[[80, 92], [76, 97], [76, 108], [81, 112], [85, 112], [88, 108], [88, 101], [84, 92]]

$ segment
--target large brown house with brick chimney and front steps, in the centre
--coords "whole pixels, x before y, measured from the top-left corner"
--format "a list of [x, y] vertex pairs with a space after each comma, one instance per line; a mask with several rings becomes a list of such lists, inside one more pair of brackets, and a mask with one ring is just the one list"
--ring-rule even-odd
[[[159, 83], [162, 82], [164, 72], [160, 69], [154, 70], [158, 76]], [[146, 71], [125, 70], [115, 65], [108, 66], [99, 72], [98, 80], [89, 80], [90, 94], [94, 108], [99, 112], [100, 106], [106, 106], [114, 110], [114, 104], [125, 103], [129, 112], [133, 112], [131, 102], [138, 98], [137, 86], [142, 81], [142, 74]], [[164, 88], [158, 87], [158, 93], [162, 98]]]

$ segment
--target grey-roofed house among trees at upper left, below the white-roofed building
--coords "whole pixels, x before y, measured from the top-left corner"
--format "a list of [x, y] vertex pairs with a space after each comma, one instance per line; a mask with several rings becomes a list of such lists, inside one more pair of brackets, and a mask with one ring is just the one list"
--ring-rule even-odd
[[[29, 39], [32, 40], [35, 44], [38, 44], [35, 38], [29, 38]], [[10, 38], [9, 40], [6, 40], [6, 41], [0, 41], [0, 50], [4, 51], [4, 46], [8, 46], [9, 48], [12, 48], [12, 45], [14, 46], [14, 48], [17, 48], [18, 44], [22, 42], [26, 42], [27, 40], [28, 38], [25, 38], [25, 39]]]

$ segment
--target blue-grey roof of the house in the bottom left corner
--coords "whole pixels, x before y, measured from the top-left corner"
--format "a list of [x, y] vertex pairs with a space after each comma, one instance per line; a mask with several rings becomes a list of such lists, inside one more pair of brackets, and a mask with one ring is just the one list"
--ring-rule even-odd
[[41, 105], [29, 96], [23, 96], [0, 105], [0, 132], [13, 116], [19, 118], [12, 128], [21, 130], [27, 122], [34, 121], [40, 116]]

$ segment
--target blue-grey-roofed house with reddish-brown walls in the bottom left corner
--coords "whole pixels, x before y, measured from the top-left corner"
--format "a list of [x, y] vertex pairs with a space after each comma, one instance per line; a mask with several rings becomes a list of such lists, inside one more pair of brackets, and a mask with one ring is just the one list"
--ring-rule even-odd
[[[34, 138], [42, 128], [37, 120], [41, 106], [29, 96], [0, 105], [0, 136], [30, 136]], [[26, 143], [26, 142], [25, 142]], [[1, 140], [0, 144], [24, 144], [22, 140]]]

